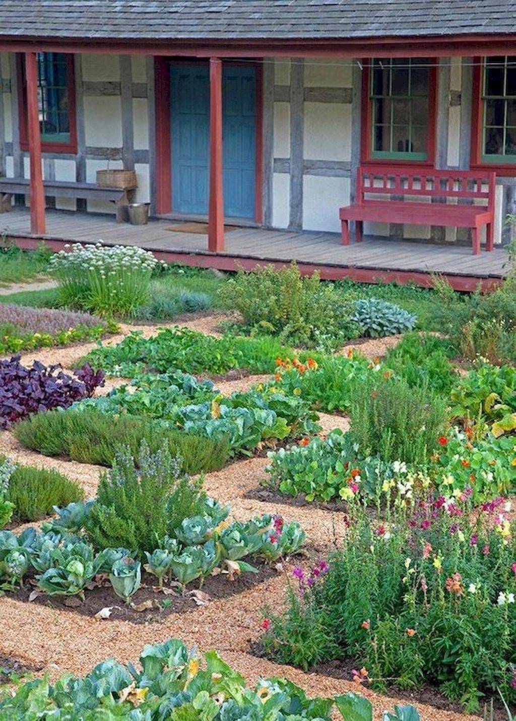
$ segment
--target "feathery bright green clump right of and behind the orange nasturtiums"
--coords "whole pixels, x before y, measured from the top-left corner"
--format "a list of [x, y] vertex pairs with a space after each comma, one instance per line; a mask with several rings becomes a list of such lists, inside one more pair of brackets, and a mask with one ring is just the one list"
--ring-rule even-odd
[[385, 366], [413, 387], [448, 395], [458, 379], [453, 353], [448, 339], [413, 332], [389, 350]]

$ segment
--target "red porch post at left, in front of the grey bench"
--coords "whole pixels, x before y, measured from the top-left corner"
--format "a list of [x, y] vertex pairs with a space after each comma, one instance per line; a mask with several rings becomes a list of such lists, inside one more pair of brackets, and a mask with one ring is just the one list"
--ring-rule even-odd
[[30, 232], [45, 234], [45, 190], [41, 167], [40, 114], [37, 102], [37, 53], [25, 53], [27, 130], [30, 155]]

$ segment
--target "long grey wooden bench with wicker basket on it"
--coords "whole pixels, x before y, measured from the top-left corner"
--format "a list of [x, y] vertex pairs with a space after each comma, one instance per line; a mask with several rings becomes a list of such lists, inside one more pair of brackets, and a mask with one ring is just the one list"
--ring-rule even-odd
[[[116, 205], [117, 223], [127, 218], [127, 205], [133, 201], [135, 187], [100, 187], [94, 183], [44, 180], [46, 195], [56, 198], [83, 198], [85, 200], [110, 200]], [[27, 178], [0, 178], [0, 213], [12, 208], [12, 195], [28, 195], [30, 180]]]

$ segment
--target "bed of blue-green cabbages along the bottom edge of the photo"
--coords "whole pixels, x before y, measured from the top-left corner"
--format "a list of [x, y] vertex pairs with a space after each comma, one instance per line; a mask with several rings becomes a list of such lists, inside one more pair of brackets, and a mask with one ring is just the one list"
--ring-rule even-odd
[[[200, 657], [170, 639], [143, 648], [139, 663], [99, 663], [84, 678], [70, 674], [20, 684], [0, 701], [1, 721], [22, 721], [43, 713], [64, 719], [106, 714], [123, 721], [373, 721], [373, 706], [354, 693], [309, 698], [292, 681], [261, 678], [248, 687], [241, 674], [215, 651]], [[392, 721], [419, 721], [414, 707], [396, 707]]]

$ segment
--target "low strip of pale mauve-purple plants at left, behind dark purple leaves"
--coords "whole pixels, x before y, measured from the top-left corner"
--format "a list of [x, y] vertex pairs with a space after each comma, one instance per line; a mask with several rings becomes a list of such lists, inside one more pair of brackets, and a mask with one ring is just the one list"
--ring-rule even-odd
[[71, 313], [52, 308], [30, 308], [14, 304], [0, 304], [0, 326], [14, 325], [25, 333], [48, 333], [55, 335], [61, 330], [79, 326], [94, 328], [104, 325], [102, 319], [89, 313]]

